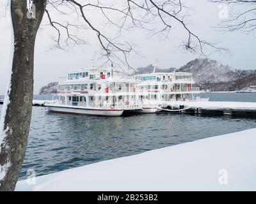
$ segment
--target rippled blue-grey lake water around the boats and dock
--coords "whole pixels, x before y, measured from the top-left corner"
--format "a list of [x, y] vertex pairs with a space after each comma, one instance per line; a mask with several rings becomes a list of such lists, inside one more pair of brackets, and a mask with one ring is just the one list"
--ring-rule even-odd
[[[256, 94], [246, 93], [209, 93], [203, 97], [211, 101], [256, 102]], [[256, 128], [256, 118], [177, 113], [88, 117], [49, 113], [47, 108], [33, 107], [20, 179], [25, 179], [31, 168], [36, 175], [45, 175], [250, 128]]]

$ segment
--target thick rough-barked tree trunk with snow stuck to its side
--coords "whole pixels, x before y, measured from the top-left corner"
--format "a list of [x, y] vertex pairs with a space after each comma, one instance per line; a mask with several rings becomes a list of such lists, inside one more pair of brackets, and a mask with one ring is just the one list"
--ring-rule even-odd
[[13, 191], [26, 152], [33, 101], [33, 63], [36, 33], [47, 0], [34, 0], [29, 16], [27, 0], [11, 0], [14, 50], [10, 88], [6, 93], [0, 129], [0, 191]]

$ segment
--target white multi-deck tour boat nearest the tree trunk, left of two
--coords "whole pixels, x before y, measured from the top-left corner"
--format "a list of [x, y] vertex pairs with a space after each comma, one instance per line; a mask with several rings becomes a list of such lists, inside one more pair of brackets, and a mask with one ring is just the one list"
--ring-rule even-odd
[[141, 110], [134, 77], [113, 68], [70, 71], [59, 82], [59, 99], [45, 103], [50, 112], [84, 115], [120, 116], [125, 110]]

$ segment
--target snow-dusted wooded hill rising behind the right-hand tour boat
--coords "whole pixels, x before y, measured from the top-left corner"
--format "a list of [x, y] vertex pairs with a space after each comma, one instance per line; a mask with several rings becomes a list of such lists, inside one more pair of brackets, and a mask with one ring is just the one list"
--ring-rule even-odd
[[[145, 68], [138, 68], [138, 73], [152, 73], [154, 66], [150, 64]], [[201, 89], [211, 91], [236, 91], [250, 85], [256, 85], [256, 69], [233, 69], [218, 61], [210, 59], [195, 59], [179, 69], [159, 69], [157, 72], [182, 71], [193, 74], [196, 84]]]

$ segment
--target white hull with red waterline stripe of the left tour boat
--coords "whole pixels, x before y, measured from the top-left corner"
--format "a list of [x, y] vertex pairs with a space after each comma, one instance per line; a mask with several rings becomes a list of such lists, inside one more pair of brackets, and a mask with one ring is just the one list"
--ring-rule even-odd
[[49, 112], [52, 113], [64, 113], [74, 115], [98, 115], [115, 117], [120, 116], [124, 110], [119, 109], [102, 109], [102, 108], [75, 108], [67, 106], [47, 106]]

